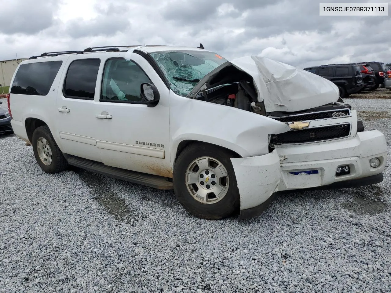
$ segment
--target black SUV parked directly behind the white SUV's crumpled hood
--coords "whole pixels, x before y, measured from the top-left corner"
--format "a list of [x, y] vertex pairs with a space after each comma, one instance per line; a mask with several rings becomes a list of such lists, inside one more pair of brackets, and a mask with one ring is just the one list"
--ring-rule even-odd
[[327, 64], [304, 68], [334, 82], [339, 88], [339, 96], [345, 98], [364, 88], [362, 74], [358, 64]]

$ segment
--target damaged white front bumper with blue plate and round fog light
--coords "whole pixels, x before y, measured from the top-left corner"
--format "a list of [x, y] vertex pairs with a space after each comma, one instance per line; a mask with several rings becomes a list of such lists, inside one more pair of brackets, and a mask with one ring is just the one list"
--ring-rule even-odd
[[[380, 165], [373, 168], [372, 158]], [[301, 189], [350, 188], [383, 180], [387, 143], [378, 130], [355, 138], [301, 146], [281, 146], [256, 157], [231, 158], [240, 193], [240, 219], [264, 211], [280, 193]], [[349, 173], [337, 175], [339, 167]]]

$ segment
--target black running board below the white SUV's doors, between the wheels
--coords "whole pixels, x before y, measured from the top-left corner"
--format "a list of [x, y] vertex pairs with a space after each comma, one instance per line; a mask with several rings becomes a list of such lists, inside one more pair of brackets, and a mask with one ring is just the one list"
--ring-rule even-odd
[[79, 157], [69, 157], [68, 164], [82, 168], [84, 170], [96, 172], [116, 179], [142, 184], [153, 188], [174, 189], [172, 182], [170, 182], [167, 177], [110, 167], [99, 162]]

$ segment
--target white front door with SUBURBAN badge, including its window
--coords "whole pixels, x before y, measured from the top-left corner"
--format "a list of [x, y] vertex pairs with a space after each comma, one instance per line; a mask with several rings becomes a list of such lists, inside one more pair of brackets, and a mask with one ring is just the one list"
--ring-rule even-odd
[[[155, 107], [140, 96], [143, 82], [160, 93]], [[107, 59], [100, 99], [95, 102], [97, 147], [101, 160], [137, 172], [172, 177], [170, 163], [169, 89], [140, 55], [132, 61]]]

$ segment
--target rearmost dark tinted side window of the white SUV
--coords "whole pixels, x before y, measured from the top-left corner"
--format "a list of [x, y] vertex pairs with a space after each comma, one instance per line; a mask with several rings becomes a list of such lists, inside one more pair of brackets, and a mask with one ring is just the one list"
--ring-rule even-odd
[[11, 87], [12, 94], [46, 96], [63, 61], [20, 65]]

